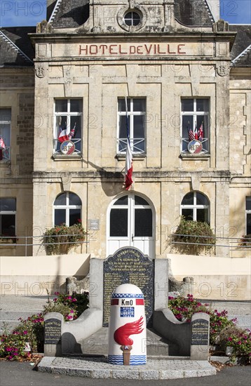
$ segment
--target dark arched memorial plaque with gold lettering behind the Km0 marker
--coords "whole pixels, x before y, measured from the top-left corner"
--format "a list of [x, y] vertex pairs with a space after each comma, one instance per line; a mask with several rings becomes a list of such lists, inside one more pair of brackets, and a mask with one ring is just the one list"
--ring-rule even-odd
[[109, 324], [111, 293], [121, 284], [135, 284], [144, 294], [147, 326], [152, 324], [154, 312], [154, 260], [137, 248], [120, 248], [103, 263], [104, 307], [103, 326]]

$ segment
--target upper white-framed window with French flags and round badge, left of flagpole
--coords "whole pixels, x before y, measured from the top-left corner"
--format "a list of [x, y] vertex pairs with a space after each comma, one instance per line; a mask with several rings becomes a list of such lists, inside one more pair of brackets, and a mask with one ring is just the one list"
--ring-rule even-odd
[[[55, 100], [54, 154], [81, 154], [82, 117], [83, 101], [81, 99]], [[72, 143], [62, 145], [65, 141], [72, 142], [74, 146]]]

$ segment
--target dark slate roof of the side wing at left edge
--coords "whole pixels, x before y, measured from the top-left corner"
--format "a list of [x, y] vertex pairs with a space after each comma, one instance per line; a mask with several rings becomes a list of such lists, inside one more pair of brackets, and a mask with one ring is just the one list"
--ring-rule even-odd
[[36, 27], [4, 27], [0, 29], [1, 67], [33, 66], [34, 48], [27, 34], [34, 32], [36, 32]]

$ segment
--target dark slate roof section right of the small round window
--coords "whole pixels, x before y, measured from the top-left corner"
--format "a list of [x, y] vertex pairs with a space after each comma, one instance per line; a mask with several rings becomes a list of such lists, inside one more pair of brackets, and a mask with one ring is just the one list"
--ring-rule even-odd
[[176, 0], [175, 18], [186, 27], [212, 27], [214, 22], [205, 0]]

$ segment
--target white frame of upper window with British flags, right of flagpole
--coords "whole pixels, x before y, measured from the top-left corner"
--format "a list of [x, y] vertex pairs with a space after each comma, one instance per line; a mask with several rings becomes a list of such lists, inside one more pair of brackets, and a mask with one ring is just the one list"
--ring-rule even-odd
[[[182, 101], [183, 100], [188, 100], [188, 99], [192, 99], [194, 100], [194, 110], [193, 111], [190, 111], [190, 112], [184, 112], [182, 111]], [[197, 112], [196, 111], [196, 102], [197, 100], [202, 100], [202, 99], [206, 99], [208, 100], [208, 111], [203, 111], [203, 112]], [[183, 132], [182, 132], [182, 124], [183, 124], [183, 117], [184, 116], [189, 116], [189, 115], [192, 115], [193, 116], [193, 121], [191, 122], [191, 128], [195, 128], [197, 126], [197, 117], [198, 116], [202, 116], [202, 115], [206, 115], [208, 117], [208, 127], [207, 127], [207, 131], [208, 131], [208, 137], [205, 137], [203, 138], [203, 140], [201, 141], [202, 143], [202, 146], [203, 146], [203, 149], [201, 150], [201, 153], [202, 154], [210, 154], [210, 98], [207, 98], [207, 97], [200, 97], [200, 98], [181, 98], [180, 100], [180, 111], [181, 111], [181, 122], [180, 122], [180, 135], [181, 135], [181, 138], [182, 138], [182, 141], [181, 141], [181, 145], [180, 145], [180, 152], [182, 154], [186, 153], [186, 154], [189, 154], [189, 151], [187, 149], [187, 145], [189, 144], [190, 140], [189, 140], [189, 135], [187, 133], [186, 137], [182, 137], [183, 135]], [[199, 129], [199, 127], [197, 126], [197, 130]], [[204, 133], [205, 133], [205, 130], [204, 130]], [[183, 145], [186, 144], [186, 149], [183, 149]], [[205, 145], [208, 147], [208, 149], [205, 149]]]

